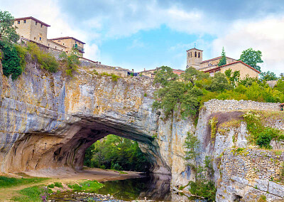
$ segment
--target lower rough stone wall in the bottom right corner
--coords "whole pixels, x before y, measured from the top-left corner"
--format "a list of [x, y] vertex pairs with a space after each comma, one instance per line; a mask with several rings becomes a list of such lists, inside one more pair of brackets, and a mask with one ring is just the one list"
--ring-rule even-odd
[[284, 201], [284, 184], [279, 183], [284, 152], [262, 149], [226, 149], [220, 162], [217, 201]]

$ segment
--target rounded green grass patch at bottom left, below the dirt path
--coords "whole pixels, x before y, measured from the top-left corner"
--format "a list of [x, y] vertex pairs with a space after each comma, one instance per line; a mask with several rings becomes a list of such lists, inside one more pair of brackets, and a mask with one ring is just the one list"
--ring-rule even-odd
[[48, 200], [49, 193], [52, 191], [48, 188], [42, 186], [31, 186], [28, 188], [23, 188], [21, 191], [18, 191], [21, 196], [14, 196], [12, 198], [13, 201], [18, 202], [42, 202]]

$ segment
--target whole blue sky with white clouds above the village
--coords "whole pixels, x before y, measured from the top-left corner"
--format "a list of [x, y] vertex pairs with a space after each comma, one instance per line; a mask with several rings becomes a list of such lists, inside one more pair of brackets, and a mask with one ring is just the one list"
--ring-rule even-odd
[[284, 0], [0, 0], [15, 18], [48, 23], [48, 38], [84, 41], [84, 57], [105, 65], [185, 70], [186, 50], [204, 50], [203, 60], [239, 59], [261, 50], [262, 71], [284, 73]]

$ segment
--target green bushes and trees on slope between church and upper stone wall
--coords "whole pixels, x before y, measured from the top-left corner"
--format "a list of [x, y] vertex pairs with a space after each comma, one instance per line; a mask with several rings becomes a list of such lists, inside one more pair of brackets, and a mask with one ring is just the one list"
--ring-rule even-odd
[[239, 78], [239, 72], [226, 70], [214, 77], [195, 68], [187, 68], [178, 76], [169, 67], [162, 66], [155, 74], [154, 83], [161, 87], [155, 92], [153, 107], [163, 109], [165, 116], [180, 110], [182, 117], [197, 115], [203, 102], [219, 100], [253, 100], [258, 102], [284, 102], [284, 80], [278, 79], [271, 88], [266, 80]]

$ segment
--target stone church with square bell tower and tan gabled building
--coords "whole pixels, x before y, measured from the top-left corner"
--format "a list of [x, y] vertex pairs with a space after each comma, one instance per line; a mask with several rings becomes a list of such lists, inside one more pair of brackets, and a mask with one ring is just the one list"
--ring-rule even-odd
[[250, 78], [258, 78], [260, 72], [255, 68], [252, 68], [250, 65], [247, 65], [243, 61], [235, 60], [233, 58], [226, 57], [226, 65], [217, 66], [220, 59], [222, 58], [212, 58], [209, 60], [203, 60], [202, 52], [203, 50], [199, 50], [197, 48], [191, 48], [187, 50], [187, 68], [193, 67], [197, 70], [200, 70], [204, 73], [209, 73], [209, 75], [213, 76], [215, 73], [221, 72], [225, 73], [226, 70], [231, 69], [232, 72], [240, 71], [240, 78], [244, 79], [246, 77]]

